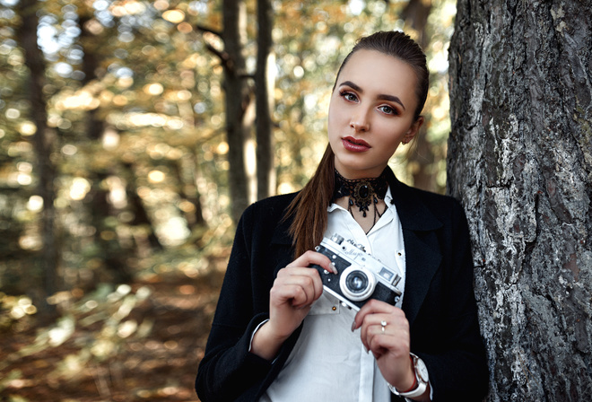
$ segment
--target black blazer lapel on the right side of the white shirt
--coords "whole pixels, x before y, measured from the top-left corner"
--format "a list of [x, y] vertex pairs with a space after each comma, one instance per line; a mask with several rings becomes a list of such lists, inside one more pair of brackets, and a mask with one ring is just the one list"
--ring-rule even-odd
[[389, 184], [396, 212], [403, 227], [405, 242], [405, 293], [403, 310], [412, 326], [430, 288], [431, 279], [440, 267], [442, 256], [435, 230], [442, 226], [438, 218], [422, 203], [417, 192], [398, 181], [390, 172]]

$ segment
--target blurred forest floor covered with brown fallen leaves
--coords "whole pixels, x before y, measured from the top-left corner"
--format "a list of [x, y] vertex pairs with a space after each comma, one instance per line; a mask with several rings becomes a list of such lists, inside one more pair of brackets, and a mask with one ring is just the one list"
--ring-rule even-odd
[[62, 300], [66, 313], [49, 328], [32, 316], [4, 329], [0, 400], [199, 400], [194, 380], [225, 261]]

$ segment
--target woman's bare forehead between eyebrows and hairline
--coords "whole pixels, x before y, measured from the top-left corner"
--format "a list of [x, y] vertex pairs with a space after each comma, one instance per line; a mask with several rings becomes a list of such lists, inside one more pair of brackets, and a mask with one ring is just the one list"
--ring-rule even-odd
[[352, 81], [364, 90], [414, 97], [417, 75], [405, 61], [377, 50], [361, 49], [353, 53], [342, 68], [337, 85], [344, 81]]

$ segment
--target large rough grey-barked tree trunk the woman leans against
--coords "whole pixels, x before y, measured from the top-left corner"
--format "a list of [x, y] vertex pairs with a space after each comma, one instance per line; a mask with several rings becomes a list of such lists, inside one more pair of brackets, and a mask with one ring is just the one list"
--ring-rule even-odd
[[491, 401], [592, 399], [592, 1], [459, 0], [448, 192]]

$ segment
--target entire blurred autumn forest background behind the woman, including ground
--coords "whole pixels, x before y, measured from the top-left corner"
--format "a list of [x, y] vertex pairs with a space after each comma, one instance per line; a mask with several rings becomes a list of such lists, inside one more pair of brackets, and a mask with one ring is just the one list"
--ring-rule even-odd
[[0, 399], [196, 400], [234, 224], [310, 177], [361, 35], [404, 30], [425, 49], [427, 124], [392, 166], [444, 192], [455, 12], [0, 0]]

